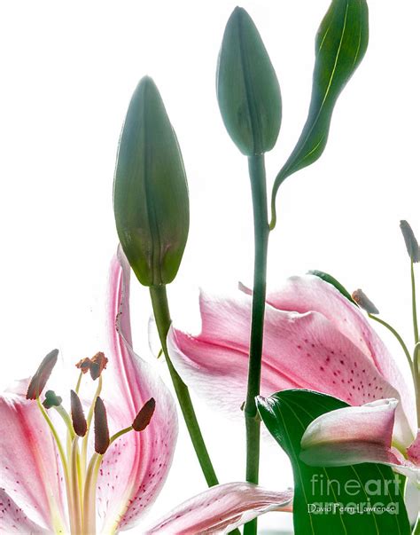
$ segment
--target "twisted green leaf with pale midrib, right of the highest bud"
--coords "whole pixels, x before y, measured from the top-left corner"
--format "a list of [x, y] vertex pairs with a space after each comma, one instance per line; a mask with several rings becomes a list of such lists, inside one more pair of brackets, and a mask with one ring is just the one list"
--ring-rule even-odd
[[368, 48], [366, 0], [332, 0], [315, 39], [315, 69], [307, 122], [297, 145], [276, 177], [270, 227], [276, 225], [276, 193], [286, 177], [316, 161], [327, 144], [338, 95]]

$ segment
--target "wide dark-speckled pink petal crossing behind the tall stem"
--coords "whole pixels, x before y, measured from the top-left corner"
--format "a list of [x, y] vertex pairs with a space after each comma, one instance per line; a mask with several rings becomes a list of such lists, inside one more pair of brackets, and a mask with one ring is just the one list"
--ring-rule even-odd
[[[199, 395], [229, 413], [245, 399], [251, 297], [217, 299], [200, 295], [198, 336], [172, 328], [167, 345], [178, 373]], [[372, 360], [319, 312], [300, 314], [266, 308], [261, 395], [281, 389], [315, 389], [363, 405], [383, 397], [400, 398]], [[399, 440], [413, 435], [401, 407]]]

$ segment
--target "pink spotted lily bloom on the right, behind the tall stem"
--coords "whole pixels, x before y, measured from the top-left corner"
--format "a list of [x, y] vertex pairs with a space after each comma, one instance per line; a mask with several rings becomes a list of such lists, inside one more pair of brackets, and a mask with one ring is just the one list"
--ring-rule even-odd
[[[251, 302], [247, 292], [229, 299], [202, 294], [201, 333], [173, 327], [168, 334], [169, 352], [183, 380], [230, 414], [240, 414], [245, 397]], [[304, 445], [322, 443], [331, 430], [340, 437], [334, 426], [348, 414], [339, 426], [339, 432], [348, 431], [347, 445], [353, 442], [352, 430], [363, 429], [365, 439], [393, 453], [393, 464], [403, 465], [405, 472], [407, 465], [418, 467], [416, 404], [401, 371], [362, 311], [313, 275], [292, 277], [267, 297], [261, 396], [291, 388], [313, 389], [353, 405], [337, 411], [337, 418], [322, 416], [318, 427], [314, 422]], [[384, 460], [383, 452], [379, 455], [376, 448], [373, 456], [373, 451], [370, 460]], [[353, 450], [351, 460], [356, 461]]]

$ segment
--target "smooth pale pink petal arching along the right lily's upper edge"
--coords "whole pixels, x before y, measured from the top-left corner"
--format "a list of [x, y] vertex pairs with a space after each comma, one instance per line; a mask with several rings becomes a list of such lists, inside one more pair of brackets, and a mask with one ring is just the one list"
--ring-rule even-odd
[[414, 437], [416, 404], [411, 389], [408, 388], [401, 370], [384, 342], [358, 307], [340, 294], [337, 288], [314, 275], [287, 279], [283, 287], [268, 294], [267, 301], [278, 310], [317, 311], [329, 319], [338, 331], [371, 360], [379, 374], [398, 390], [402, 410], [407, 415], [411, 434]]

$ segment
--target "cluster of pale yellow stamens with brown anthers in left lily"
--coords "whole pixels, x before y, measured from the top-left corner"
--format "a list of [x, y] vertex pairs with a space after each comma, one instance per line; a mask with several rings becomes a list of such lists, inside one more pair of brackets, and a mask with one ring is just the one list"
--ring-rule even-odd
[[[72, 535], [94, 535], [96, 533], [96, 492], [97, 476], [105, 452], [113, 442], [129, 431], [143, 431], [150, 423], [155, 402], [150, 399], [137, 413], [132, 425], [121, 429], [112, 437], [109, 436], [105, 404], [100, 397], [103, 376], [108, 359], [99, 352], [93, 358], [83, 358], [76, 364], [80, 369], [79, 378], [74, 390], [71, 390], [71, 412], [67, 413], [62, 405], [62, 398], [53, 390], [47, 390], [43, 402], [40, 397], [48, 382], [51, 371], [58, 358], [58, 351], [51, 351], [38, 367], [27, 389], [27, 399], [34, 399], [43, 414], [58, 448], [63, 476], [66, 484], [66, 500], [70, 533]], [[85, 418], [79, 391], [82, 387], [84, 374], [90, 372], [93, 381], [97, 381], [97, 389], [89, 405], [88, 416]], [[58, 434], [58, 429], [51, 420], [49, 410], [56, 410], [66, 426], [66, 447]], [[94, 422], [94, 450], [88, 460], [90, 429]]]

